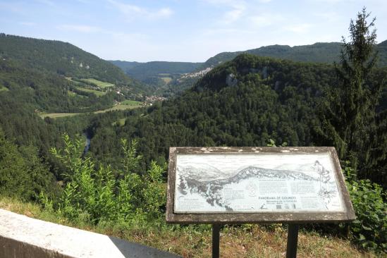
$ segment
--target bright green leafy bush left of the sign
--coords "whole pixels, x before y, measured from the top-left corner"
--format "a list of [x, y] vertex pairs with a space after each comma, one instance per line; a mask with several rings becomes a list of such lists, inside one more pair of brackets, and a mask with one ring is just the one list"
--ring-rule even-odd
[[90, 157], [82, 158], [83, 142], [72, 141], [63, 136], [63, 153], [51, 149], [58, 159], [68, 168], [63, 175], [64, 184], [61, 197], [51, 202], [44, 195], [42, 202], [47, 209], [73, 221], [90, 223], [109, 223], [126, 221], [147, 223], [159, 221], [161, 209], [165, 206], [166, 189], [162, 173], [166, 166], [152, 161], [149, 171], [135, 173], [141, 159], [133, 140], [128, 145], [122, 140], [124, 171], [112, 171], [109, 166], [99, 165], [97, 169]]

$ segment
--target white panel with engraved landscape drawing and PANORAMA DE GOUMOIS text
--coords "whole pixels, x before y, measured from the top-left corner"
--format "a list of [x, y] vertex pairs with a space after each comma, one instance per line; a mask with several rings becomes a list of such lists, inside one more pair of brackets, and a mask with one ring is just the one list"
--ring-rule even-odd
[[343, 211], [324, 154], [178, 154], [175, 213]]

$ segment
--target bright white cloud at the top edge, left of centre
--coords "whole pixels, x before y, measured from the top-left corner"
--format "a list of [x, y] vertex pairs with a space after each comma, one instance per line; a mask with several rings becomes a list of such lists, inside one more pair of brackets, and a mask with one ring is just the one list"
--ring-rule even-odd
[[159, 19], [159, 18], [168, 18], [173, 14], [171, 8], [159, 8], [154, 11], [149, 11], [146, 8], [140, 6], [135, 6], [133, 4], [124, 4], [116, 0], [108, 0], [109, 3], [121, 11], [121, 13], [128, 16], [128, 19], [132, 20], [136, 17], [148, 18], [148, 19]]

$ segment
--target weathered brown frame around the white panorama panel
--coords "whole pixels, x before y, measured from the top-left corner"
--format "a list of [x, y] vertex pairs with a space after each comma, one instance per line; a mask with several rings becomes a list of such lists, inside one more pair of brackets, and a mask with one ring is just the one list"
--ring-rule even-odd
[[[285, 211], [285, 212], [233, 212], [233, 213], [176, 213], [174, 212], [176, 191], [177, 156], [179, 154], [322, 154], [331, 158], [336, 185], [340, 193], [343, 211]], [[355, 220], [355, 212], [341, 172], [340, 162], [334, 147], [171, 147], [169, 150], [168, 190], [166, 221], [168, 223], [321, 223]]]

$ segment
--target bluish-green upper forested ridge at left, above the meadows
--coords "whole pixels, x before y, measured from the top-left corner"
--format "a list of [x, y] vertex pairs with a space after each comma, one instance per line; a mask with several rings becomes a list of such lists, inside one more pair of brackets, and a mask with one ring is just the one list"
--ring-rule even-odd
[[146, 90], [121, 69], [68, 42], [35, 39], [0, 33], [0, 58], [25, 68], [46, 70], [72, 78], [95, 78], [113, 84]]

